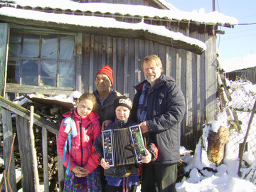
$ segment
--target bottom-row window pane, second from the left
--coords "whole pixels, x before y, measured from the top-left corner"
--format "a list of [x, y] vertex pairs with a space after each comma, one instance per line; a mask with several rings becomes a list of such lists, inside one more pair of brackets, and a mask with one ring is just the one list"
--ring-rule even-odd
[[38, 61], [23, 60], [21, 67], [21, 84], [38, 85]]

